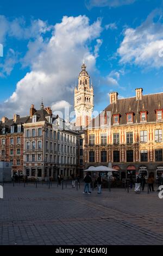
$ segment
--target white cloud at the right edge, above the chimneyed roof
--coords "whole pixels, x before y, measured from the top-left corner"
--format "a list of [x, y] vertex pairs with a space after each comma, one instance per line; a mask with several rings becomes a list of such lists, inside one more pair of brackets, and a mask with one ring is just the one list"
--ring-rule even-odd
[[[159, 15], [159, 17], [158, 17]], [[135, 64], [146, 68], [161, 68], [159, 56], [163, 48], [162, 14], [155, 10], [137, 28], [127, 28], [117, 52], [121, 63]]]

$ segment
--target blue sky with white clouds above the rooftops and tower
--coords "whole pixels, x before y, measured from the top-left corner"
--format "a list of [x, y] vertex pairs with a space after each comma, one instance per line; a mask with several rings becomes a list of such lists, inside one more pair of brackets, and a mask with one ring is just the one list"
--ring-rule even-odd
[[98, 112], [113, 91], [163, 92], [162, 14], [162, 0], [0, 0], [0, 118], [42, 98], [53, 113], [73, 110], [83, 60]]

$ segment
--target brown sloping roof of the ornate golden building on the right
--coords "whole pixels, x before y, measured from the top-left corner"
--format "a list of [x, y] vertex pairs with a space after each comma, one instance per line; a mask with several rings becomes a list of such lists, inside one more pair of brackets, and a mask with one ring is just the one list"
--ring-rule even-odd
[[[111, 112], [111, 125], [113, 125], [112, 115], [120, 114], [120, 125], [127, 124], [126, 113], [133, 112], [133, 124], [140, 123], [140, 112], [147, 111], [147, 122], [156, 121], [155, 110], [163, 109], [163, 93], [142, 95], [141, 100], [136, 97], [128, 97], [125, 99], [117, 99], [116, 103], [111, 103], [104, 109], [104, 113]], [[100, 115], [92, 120], [92, 127], [99, 127]], [[96, 124], [96, 125], [95, 125]], [[91, 128], [91, 123], [88, 125]]]

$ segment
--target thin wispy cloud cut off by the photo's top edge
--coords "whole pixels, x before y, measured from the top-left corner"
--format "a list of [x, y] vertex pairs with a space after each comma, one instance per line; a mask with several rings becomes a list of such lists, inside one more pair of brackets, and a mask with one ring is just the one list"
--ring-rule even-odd
[[85, 1], [86, 7], [119, 7], [121, 5], [133, 4], [137, 0], [87, 0]]

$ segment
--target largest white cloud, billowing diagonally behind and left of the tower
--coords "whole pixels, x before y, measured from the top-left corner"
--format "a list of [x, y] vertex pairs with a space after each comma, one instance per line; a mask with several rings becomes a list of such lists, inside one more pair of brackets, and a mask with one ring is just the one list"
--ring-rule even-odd
[[[89, 72], [96, 69], [98, 50], [92, 53], [87, 45], [99, 40], [101, 31], [101, 20], [90, 25], [86, 16], [64, 16], [54, 26], [48, 41], [29, 43], [24, 62], [31, 63], [31, 72], [17, 83], [15, 92], [2, 104], [1, 113], [28, 114], [31, 103], [40, 106], [42, 96], [46, 106], [55, 107], [54, 102], [62, 100], [73, 102], [74, 83], [83, 58]], [[36, 52], [40, 49], [37, 44], [41, 50], [35, 54], [34, 48]], [[100, 44], [101, 41], [97, 41], [97, 45]]]

